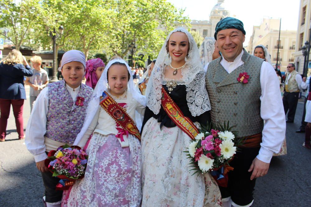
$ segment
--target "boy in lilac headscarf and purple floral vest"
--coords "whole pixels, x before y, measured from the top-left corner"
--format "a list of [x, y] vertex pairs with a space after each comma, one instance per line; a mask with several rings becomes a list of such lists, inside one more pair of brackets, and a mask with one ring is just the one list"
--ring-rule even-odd
[[52, 176], [44, 160], [49, 151], [66, 143], [71, 146], [82, 128], [93, 92], [81, 83], [85, 67], [83, 52], [65, 52], [61, 64], [64, 79], [49, 83], [40, 92], [28, 120], [25, 143], [41, 172], [47, 207], [60, 207], [63, 191], [55, 190], [60, 179]]

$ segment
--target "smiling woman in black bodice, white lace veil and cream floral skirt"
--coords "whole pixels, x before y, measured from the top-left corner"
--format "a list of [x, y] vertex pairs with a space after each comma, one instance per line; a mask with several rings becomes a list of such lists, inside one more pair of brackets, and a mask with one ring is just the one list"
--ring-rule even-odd
[[199, 123], [206, 125], [211, 108], [205, 72], [197, 44], [183, 27], [167, 36], [146, 88], [142, 206], [219, 206], [220, 191], [210, 173], [192, 176], [189, 172], [189, 159], [183, 151], [191, 138], [161, 106], [162, 87], [184, 116], [197, 127]]

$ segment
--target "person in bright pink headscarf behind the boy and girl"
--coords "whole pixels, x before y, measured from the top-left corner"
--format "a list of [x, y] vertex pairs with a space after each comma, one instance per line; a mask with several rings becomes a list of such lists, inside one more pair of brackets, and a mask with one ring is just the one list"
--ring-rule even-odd
[[100, 58], [90, 59], [86, 61], [85, 78], [86, 85], [95, 88], [100, 75], [104, 71], [105, 64]]

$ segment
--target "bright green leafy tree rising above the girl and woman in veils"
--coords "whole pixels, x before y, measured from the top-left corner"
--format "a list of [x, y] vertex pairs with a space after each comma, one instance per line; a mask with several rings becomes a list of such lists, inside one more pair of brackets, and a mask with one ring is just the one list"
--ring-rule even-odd
[[177, 10], [166, 0], [115, 0], [111, 9], [115, 18], [106, 43], [113, 54], [123, 58], [132, 42], [137, 52], [154, 58], [170, 30], [189, 25], [188, 17], [183, 16], [184, 10]]

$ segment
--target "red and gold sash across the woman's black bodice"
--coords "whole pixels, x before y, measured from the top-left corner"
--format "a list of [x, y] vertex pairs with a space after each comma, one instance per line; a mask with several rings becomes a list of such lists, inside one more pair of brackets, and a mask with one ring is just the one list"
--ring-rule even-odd
[[184, 133], [188, 134], [191, 139], [195, 139], [199, 132], [193, 122], [179, 109], [177, 104], [169, 96], [169, 94], [162, 87], [161, 105], [169, 118], [181, 129]]

